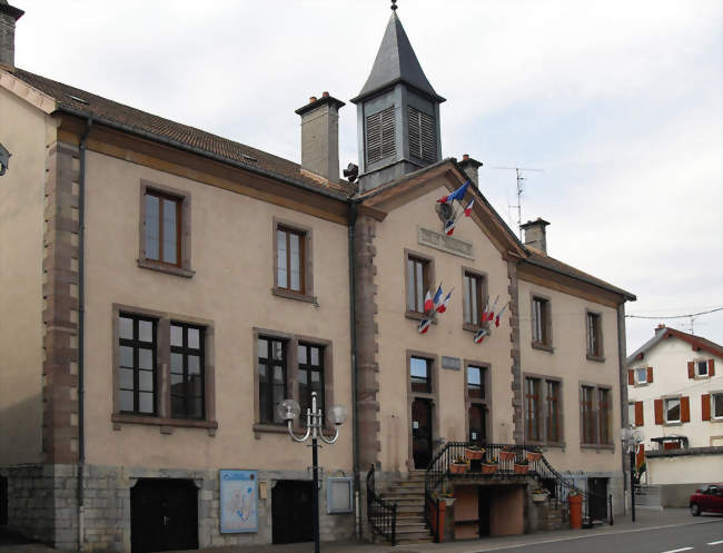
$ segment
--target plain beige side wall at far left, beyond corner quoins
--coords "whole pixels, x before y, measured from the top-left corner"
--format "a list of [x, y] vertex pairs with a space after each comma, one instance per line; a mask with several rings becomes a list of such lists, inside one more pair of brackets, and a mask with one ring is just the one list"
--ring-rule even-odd
[[41, 460], [42, 259], [51, 117], [0, 87], [0, 464]]

